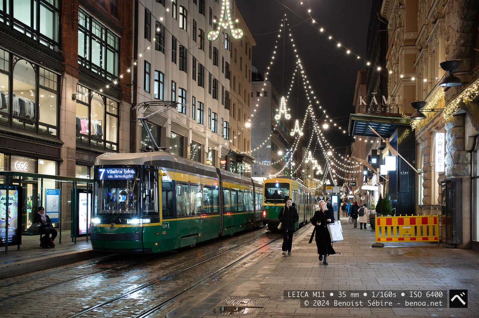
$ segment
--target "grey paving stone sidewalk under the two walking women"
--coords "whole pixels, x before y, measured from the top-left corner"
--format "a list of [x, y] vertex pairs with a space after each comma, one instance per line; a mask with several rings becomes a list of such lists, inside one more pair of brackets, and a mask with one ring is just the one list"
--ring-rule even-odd
[[[343, 221], [344, 222], [344, 221]], [[437, 243], [388, 243], [372, 248], [374, 232], [343, 223], [344, 241], [334, 243], [340, 255], [318, 260], [316, 244], [308, 244], [312, 226], [295, 233], [292, 255], [281, 254], [281, 240], [253, 254], [223, 279], [191, 296], [166, 314], [176, 317], [218, 317], [228, 311], [227, 297], [264, 297], [266, 303], [234, 317], [479, 317], [479, 253], [447, 249]], [[285, 290], [427, 291], [468, 289], [468, 308], [301, 308], [300, 300], [284, 299]], [[259, 298], [257, 298], [259, 299]], [[216, 314], [211, 310], [216, 308]], [[258, 310], [259, 309], [259, 310]], [[222, 315], [226, 315], [223, 313]], [[162, 316], [163, 317], [163, 316]]]

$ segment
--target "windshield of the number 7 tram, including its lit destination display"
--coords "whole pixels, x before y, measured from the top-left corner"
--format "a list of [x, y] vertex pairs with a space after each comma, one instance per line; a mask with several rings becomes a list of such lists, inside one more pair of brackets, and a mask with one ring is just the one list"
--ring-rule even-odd
[[97, 168], [93, 216], [140, 217], [139, 194], [139, 168]]

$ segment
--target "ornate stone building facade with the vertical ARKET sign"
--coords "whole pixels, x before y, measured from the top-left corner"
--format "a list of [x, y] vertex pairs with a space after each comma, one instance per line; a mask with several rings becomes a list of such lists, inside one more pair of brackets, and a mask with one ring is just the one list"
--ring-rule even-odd
[[[445, 245], [466, 249], [476, 247], [479, 240], [474, 158], [479, 135], [474, 107], [478, 77], [469, 73], [478, 68], [478, 10], [477, 0], [385, 0], [381, 7], [381, 16], [388, 21], [387, 69], [393, 73], [388, 93], [402, 92], [404, 116], [415, 111], [407, 106], [410, 102], [427, 102], [422, 110], [427, 118], [411, 122], [416, 138], [415, 167], [422, 172], [416, 176], [416, 213], [441, 215], [441, 203], [445, 202], [441, 180], [461, 179], [462, 188], [457, 189], [455, 199], [462, 209], [455, 213], [460, 213], [462, 233], [457, 243]], [[458, 71], [467, 74], [457, 75], [462, 85], [439, 85], [445, 75], [440, 63], [446, 60], [463, 62]]]

